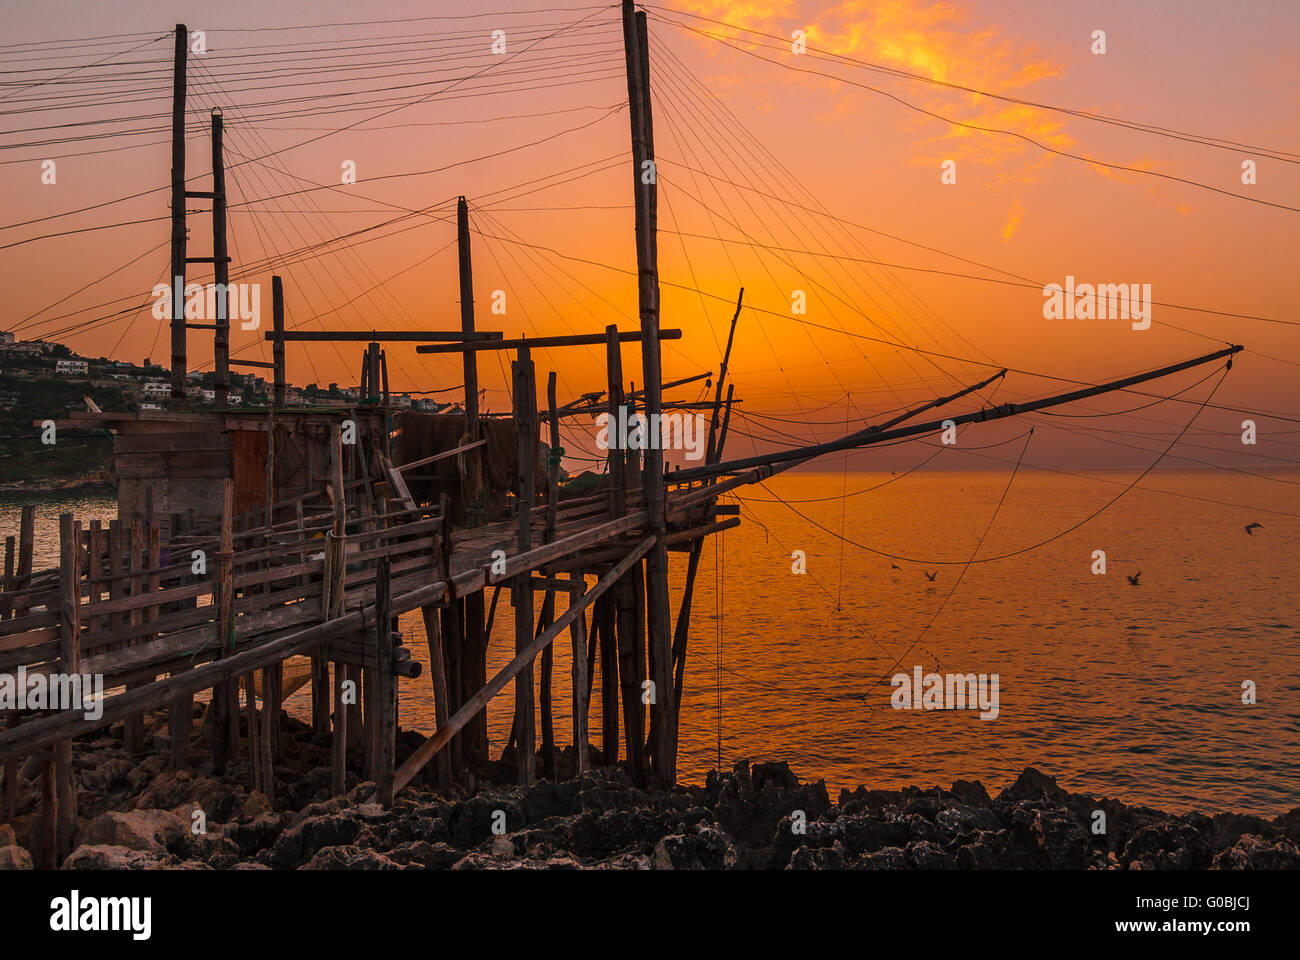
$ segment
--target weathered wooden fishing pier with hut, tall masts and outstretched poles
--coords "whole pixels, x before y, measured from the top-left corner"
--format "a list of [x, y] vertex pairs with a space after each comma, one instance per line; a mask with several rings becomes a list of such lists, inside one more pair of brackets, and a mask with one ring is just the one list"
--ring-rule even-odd
[[[429, 786], [467, 783], [489, 760], [486, 712], [514, 680], [511, 743], [517, 782], [556, 777], [559, 740], [568, 739], [581, 774], [623, 764], [634, 782], [676, 780], [677, 734], [690, 628], [692, 593], [706, 537], [740, 523], [720, 497], [820, 454], [910, 436], [945, 423], [994, 420], [1108, 390], [1124, 389], [1216, 360], [1208, 354], [1136, 377], [1023, 405], [983, 406], [946, 421], [901, 425], [956, 402], [993, 379], [936, 398], [838, 441], [766, 457], [725, 460], [729, 411], [738, 402], [727, 364], [741, 313], [737, 300], [727, 351], [719, 358], [703, 463], [664, 472], [659, 442], [611, 444], [594, 492], [566, 496], [560, 477], [563, 418], [608, 414], [658, 423], [675, 403], [664, 392], [699, 376], [663, 382], [659, 343], [680, 337], [660, 327], [655, 250], [656, 194], [645, 14], [624, 3], [624, 42], [637, 211], [638, 320], [623, 329], [563, 337], [512, 338], [481, 330], [473, 315], [468, 204], [458, 204], [460, 329], [400, 333], [294, 332], [283, 324], [285, 290], [273, 280], [272, 341], [276, 403], [269, 410], [188, 411], [183, 315], [173, 317], [173, 408], [140, 414], [69, 414], [57, 427], [101, 427], [114, 434], [118, 518], [103, 524], [60, 518], [60, 562], [34, 568], [35, 518], [22, 515], [5, 544], [0, 592], [0, 675], [103, 679], [90, 709], [10, 712], [0, 730], [0, 821], [14, 816], [26, 760], [39, 767], [40, 853], [56, 865], [77, 833], [73, 751], [78, 738], [121, 723], [133, 752], [164, 749], [176, 769], [195, 765], [195, 738], [213, 771], [246, 761], [251, 787], [274, 800], [282, 697], [311, 687], [311, 726], [333, 745], [332, 784], [348, 774], [373, 780], [378, 799], [416, 778]], [[178, 27], [178, 38], [183, 36]], [[177, 47], [182, 82], [183, 43]], [[185, 198], [224, 209], [220, 122], [213, 125], [211, 193], [185, 190], [183, 122], [173, 169], [173, 276], [185, 264]], [[177, 186], [179, 185], [179, 186]], [[214, 230], [224, 232], [224, 216]], [[224, 259], [224, 237], [214, 237]], [[222, 263], [224, 267], [224, 263]], [[176, 307], [179, 311], [179, 303]], [[214, 324], [217, 369], [229, 371], [229, 320]], [[398, 410], [387, 390], [381, 343], [419, 341], [421, 353], [459, 353], [463, 402], [454, 414]], [[361, 399], [346, 407], [285, 405], [285, 355], [296, 342], [364, 343]], [[603, 345], [602, 392], [562, 402], [556, 376], [538, 386], [537, 355], [556, 363], [577, 345]], [[627, 377], [624, 350], [640, 376]], [[510, 416], [478, 408], [477, 358], [512, 354]], [[255, 364], [265, 366], [265, 364]], [[638, 379], [641, 389], [629, 386]], [[442, 385], [432, 384], [432, 388]], [[724, 395], [725, 388], [725, 395]], [[226, 397], [221, 392], [221, 399]], [[653, 434], [653, 429], [651, 429]], [[611, 431], [612, 436], [612, 431]], [[437, 441], [430, 440], [437, 437]], [[545, 440], [543, 440], [545, 437]], [[504, 477], [504, 480], [502, 480]], [[52, 537], [47, 531], [43, 536]], [[671, 553], [685, 554], [684, 589], [668, 594]], [[514, 647], [488, 675], [498, 601], [508, 592]], [[490, 598], [489, 598], [490, 594]], [[398, 628], [419, 610], [429, 652], [436, 731], [396, 762], [398, 678], [421, 665]], [[572, 652], [572, 728], [555, 727], [552, 645]], [[590, 702], [599, 675], [602, 714]], [[203, 706], [195, 725], [195, 697]], [[143, 714], [166, 710], [168, 734], [143, 741]], [[495, 706], [493, 708], [495, 709]], [[94, 714], [94, 715], [91, 715]], [[538, 741], [538, 731], [541, 739]], [[30, 758], [30, 760], [29, 760]], [[432, 766], [430, 766], [432, 764]]]

